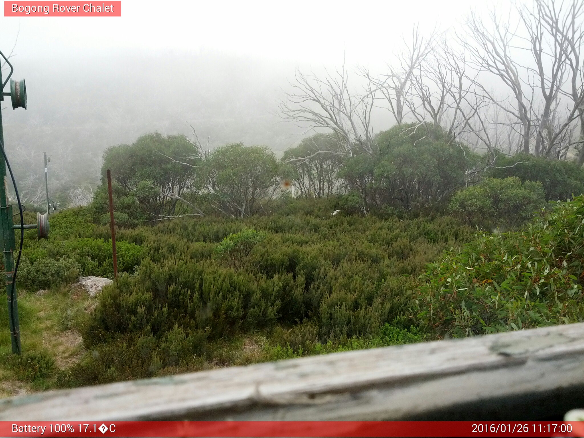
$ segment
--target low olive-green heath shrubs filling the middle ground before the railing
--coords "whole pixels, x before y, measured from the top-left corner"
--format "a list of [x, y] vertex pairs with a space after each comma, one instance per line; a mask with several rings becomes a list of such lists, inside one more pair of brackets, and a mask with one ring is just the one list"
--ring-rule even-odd
[[[467, 241], [470, 229], [449, 217], [331, 217], [334, 200], [313, 201], [288, 201], [302, 207], [294, 215], [182, 218], [121, 230], [124, 241], [142, 245], [141, 265], [100, 294], [83, 331], [95, 354], [74, 374], [99, 383], [196, 369], [201, 360], [230, 363], [217, 359], [223, 349], [214, 345], [258, 332], [270, 339], [265, 360], [288, 347], [318, 354], [423, 339], [409, 325], [390, 336], [385, 325], [406, 316], [426, 263]], [[238, 250], [245, 263], [217, 258], [240, 239], [250, 243]], [[116, 349], [124, 354], [116, 357]]]

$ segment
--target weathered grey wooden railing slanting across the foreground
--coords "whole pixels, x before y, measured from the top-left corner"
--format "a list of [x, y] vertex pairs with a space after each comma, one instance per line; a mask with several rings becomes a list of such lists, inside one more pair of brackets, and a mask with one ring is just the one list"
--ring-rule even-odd
[[0, 400], [0, 420], [561, 419], [584, 407], [584, 324]]

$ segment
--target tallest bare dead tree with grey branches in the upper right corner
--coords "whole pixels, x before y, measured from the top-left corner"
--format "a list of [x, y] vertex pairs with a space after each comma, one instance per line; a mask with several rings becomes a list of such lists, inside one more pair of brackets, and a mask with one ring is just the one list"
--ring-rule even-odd
[[[516, 27], [496, 11], [491, 12], [489, 26], [471, 13], [467, 35], [458, 40], [472, 54], [475, 68], [494, 75], [509, 89], [511, 99], [498, 99], [477, 82], [482, 95], [508, 114], [506, 126], [509, 133], [520, 134], [520, 151], [529, 154], [533, 145], [534, 155], [568, 157], [568, 151], [580, 144], [572, 124], [579, 121], [580, 133], [584, 132], [580, 57], [584, 5], [579, 0], [559, 4], [534, 0], [533, 6], [520, 6], [516, 12]], [[531, 61], [520, 64], [517, 59], [526, 55]]]

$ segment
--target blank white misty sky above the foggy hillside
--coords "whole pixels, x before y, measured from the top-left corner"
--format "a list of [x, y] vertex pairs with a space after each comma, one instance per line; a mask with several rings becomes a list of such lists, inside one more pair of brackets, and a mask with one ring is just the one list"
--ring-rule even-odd
[[[481, 7], [474, 5], [474, 8]], [[447, 29], [464, 0], [150, 1], [123, 0], [120, 18], [2, 18], [2, 50], [20, 26], [19, 57], [88, 57], [109, 51], [213, 51], [274, 61], [374, 65], [412, 25]]]

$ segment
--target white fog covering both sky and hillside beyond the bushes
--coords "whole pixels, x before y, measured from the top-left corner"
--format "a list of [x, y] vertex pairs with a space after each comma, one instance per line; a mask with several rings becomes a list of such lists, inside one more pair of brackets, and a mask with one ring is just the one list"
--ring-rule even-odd
[[[414, 25], [453, 29], [470, 11], [463, 1], [208, 3], [124, 0], [121, 18], [2, 18], [0, 50], [12, 50], [13, 77], [27, 85], [29, 109], [5, 102], [2, 114], [22, 192], [42, 187], [43, 151], [54, 190], [95, 186], [107, 147], [152, 131], [192, 126], [210, 147], [242, 141], [280, 155], [306, 133], [278, 113], [296, 69], [345, 61], [381, 71]], [[376, 113], [377, 130], [392, 123]]]

